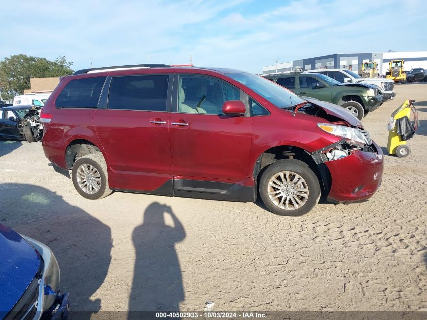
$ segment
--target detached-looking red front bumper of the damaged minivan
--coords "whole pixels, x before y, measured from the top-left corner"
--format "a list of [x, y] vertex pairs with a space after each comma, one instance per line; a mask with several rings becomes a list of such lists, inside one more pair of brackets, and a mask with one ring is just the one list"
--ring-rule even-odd
[[325, 162], [332, 180], [329, 201], [362, 202], [378, 190], [383, 174], [383, 152], [375, 142], [373, 145], [376, 153], [358, 151], [350, 156]]

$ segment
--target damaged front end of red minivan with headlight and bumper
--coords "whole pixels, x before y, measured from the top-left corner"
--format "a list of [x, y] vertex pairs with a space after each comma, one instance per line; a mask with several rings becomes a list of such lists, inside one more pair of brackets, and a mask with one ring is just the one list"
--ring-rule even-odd
[[383, 152], [362, 123], [347, 110], [331, 103], [306, 99], [296, 112], [315, 116], [317, 127], [337, 139], [310, 153], [331, 202], [361, 202], [381, 185]]

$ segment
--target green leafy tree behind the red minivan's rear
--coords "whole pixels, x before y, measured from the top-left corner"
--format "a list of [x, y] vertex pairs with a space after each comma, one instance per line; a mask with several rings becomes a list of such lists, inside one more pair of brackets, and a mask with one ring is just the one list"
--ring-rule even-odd
[[30, 88], [31, 78], [61, 77], [73, 73], [72, 62], [65, 57], [54, 61], [27, 55], [13, 55], [0, 61], [0, 90], [9, 94], [23, 94]]

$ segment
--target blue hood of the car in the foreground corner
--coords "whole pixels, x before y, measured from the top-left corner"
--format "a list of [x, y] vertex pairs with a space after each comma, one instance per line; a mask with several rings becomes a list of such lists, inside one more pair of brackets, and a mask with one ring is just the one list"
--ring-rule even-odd
[[24, 294], [40, 263], [39, 253], [24, 238], [0, 224], [0, 319]]

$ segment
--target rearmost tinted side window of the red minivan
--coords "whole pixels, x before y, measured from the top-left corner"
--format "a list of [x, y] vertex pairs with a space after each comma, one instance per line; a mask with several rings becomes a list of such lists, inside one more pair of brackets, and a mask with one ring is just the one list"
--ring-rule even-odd
[[96, 108], [106, 77], [71, 80], [55, 100], [57, 108]]

